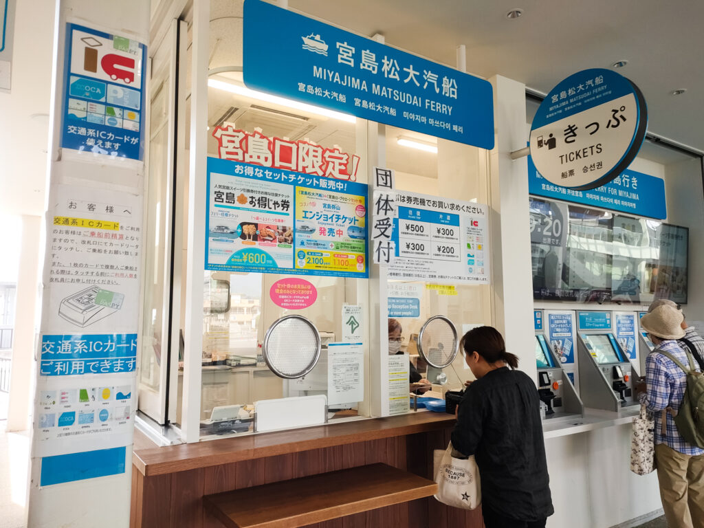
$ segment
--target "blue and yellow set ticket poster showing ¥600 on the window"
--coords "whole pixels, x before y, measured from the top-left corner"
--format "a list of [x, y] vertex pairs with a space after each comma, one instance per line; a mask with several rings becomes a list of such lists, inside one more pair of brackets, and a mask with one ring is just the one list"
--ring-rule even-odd
[[208, 158], [206, 269], [368, 277], [367, 186]]

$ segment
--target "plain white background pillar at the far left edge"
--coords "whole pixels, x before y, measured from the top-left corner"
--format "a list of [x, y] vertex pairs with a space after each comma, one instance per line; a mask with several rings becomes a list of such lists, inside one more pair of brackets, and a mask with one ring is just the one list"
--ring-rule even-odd
[[34, 393], [34, 338], [39, 298], [39, 234], [42, 218], [23, 215], [20, 268], [17, 277], [17, 303], [12, 344], [12, 377], [7, 430], [24, 431], [30, 427], [30, 409]]

